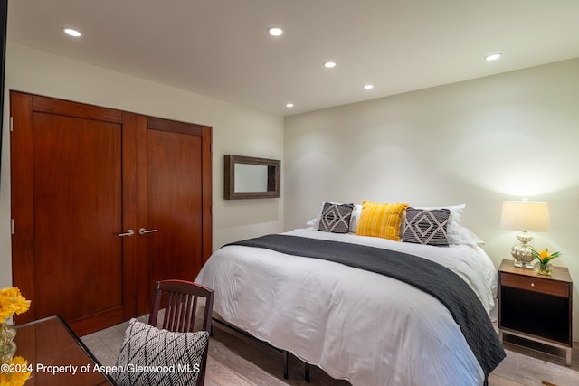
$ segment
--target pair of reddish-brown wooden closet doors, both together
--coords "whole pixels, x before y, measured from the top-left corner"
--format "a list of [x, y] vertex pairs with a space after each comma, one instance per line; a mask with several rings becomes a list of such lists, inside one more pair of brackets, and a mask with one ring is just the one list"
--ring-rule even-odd
[[59, 314], [89, 334], [147, 314], [155, 281], [195, 279], [212, 251], [211, 127], [10, 98], [13, 281], [32, 300], [17, 323]]

